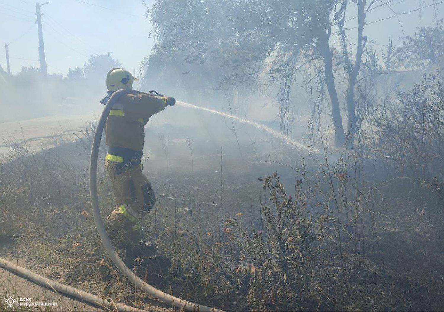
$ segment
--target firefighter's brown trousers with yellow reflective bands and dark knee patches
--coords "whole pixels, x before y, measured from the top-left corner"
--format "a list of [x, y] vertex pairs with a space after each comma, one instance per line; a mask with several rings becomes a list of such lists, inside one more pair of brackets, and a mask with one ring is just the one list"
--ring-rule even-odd
[[118, 233], [124, 244], [137, 244], [141, 218], [153, 208], [155, 195], [150, 181], [142, 173], [143, 165], [137, 164], [116, 174], [116, 166], [122, 162], [122, 158], [107, 154], [105, 170], [112, 182], [117, 208], [108, 216], [105, 225], [111, 238]]

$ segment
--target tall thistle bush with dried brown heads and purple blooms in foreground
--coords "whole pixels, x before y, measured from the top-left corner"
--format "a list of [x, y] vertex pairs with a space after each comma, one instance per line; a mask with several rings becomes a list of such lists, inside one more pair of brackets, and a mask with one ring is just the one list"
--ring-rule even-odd
[[[266, 231], [252, 237], [242, 230], [242, 271], [250, 276], [248, 302], [254, 311], [295, 311], [304, 306], [310, 287], [317, 235], [299, 183], [296, 199], [285, 192], [277, 173], [263, 179], [274, 207], [262, 206]], [[235, 223], [234, 221], [232, 221]]]

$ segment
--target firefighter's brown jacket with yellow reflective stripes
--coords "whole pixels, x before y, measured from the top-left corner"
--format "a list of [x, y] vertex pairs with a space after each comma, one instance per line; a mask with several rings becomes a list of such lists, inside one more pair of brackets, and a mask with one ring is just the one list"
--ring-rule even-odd
[[152, 96], [136, 90], [120, 96], [107, 119], [106, 145], [142, 151], [144, 127], [151, 116], [163, 111], [166, 100], [166, 96]]

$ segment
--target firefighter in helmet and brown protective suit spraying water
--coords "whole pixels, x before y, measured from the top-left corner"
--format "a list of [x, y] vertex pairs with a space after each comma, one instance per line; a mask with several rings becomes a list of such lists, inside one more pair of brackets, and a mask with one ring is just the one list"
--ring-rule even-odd
[[107, 96], [100, 101], [106, 104], [115, 91], [128, 90], [116, 100], [105, 126], [108, 146], [105, 170], [117, 205], [107, 217], [105, 228], [113, 243], [125, 248], [129, 257], [135, 249], [140, 249], [140, 221], [155, 204], [151, 183], [142, 173], [144, 127], [151, 116], [175, 104], [174, 97], [133, 90], [135, 80], [137, 78], [123, 68], [111, 69], [106, 80]]

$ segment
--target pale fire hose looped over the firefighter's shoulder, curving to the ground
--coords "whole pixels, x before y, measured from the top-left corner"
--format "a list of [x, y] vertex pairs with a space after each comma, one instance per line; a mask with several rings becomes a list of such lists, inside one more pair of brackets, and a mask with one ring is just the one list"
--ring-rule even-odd
[[171, 304], [174, 308], [184, 309], [187, 311], [221, 312], [221, 310], [215, 308], [210, 308], [205, 305], [195, 304], [190, 301], [173, 297], [172, 295], [169, 295], [160, 291], [159, 289], [154, 288], [153, 286], [147, 284], [145, 281], [142, 281], [133, 271], [131, 271], [125, 265], [125, 263], [123, 263], [122, 259], [119, 257], [119, 254], [117, 254], [115, 248], [112, 246], [111, 241], [105, 231], [102, 216], [100, 215], [99, 199], [97, 197], [97, 158], [99, 157], [99, 146], [100, 140], [102, 139], [103, 128], [105, 127], [109, 112], [111, 111], [111, 108], [114, 105], [115, 101], [120, 96], [123, 96], [128, 92], [129, 90], [120, 89], [114, 92], [112, 96], [108, 99], [107, 104], [103, 109], [102, 115], [100, 116], [97, 128], [95, 129], [94, 140], [91, 148], [91, 159], [89, 163], [89, 192], [91, 198], [92, 215], [94, 216], [94, 222], [97, 227], [97, 231], [99, 231], [100, 239], [102, 240], [103, 246], [105, 247], [108, 256], [115, 263], [120, 272], [122, 272], [134, 285], [142, 289], [145, 293], [167, 304]]

